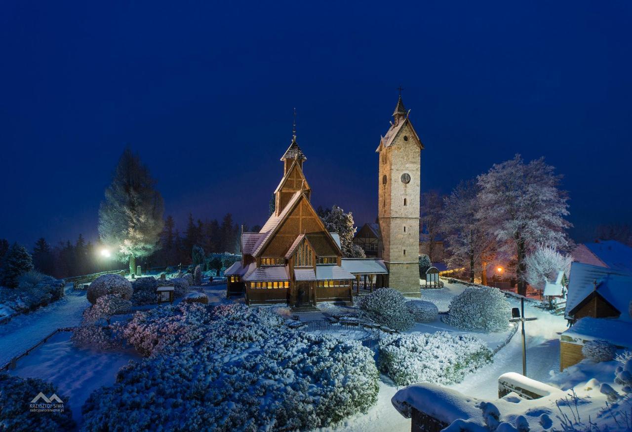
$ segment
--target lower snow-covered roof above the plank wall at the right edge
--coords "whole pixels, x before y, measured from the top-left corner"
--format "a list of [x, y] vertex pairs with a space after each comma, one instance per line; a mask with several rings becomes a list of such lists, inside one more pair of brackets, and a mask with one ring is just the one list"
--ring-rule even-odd
[[563, 332], [562, 336], [581, 341], [602, 339], [619, 347], [632, 348], [632, 323], [615, 318], [586, 316]]

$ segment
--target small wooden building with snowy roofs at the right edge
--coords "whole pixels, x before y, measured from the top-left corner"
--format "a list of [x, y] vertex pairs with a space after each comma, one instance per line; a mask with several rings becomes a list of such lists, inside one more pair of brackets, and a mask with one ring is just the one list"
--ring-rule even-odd
[[570, 273], [566, 319], [571, 328], [560, 337], [561, 370], [584, 358], [581, 348], [588, 340], [632, 346], [632, 275], [579, 262], [571, 265]]

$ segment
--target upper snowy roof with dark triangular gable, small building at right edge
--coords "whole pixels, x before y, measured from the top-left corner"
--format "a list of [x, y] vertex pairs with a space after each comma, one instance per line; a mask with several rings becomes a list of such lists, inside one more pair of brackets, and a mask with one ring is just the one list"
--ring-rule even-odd
[[631, 321], [628, 309], [632, 300], [632, 274], [577, 261], [571, 265], [566, 297], [566, 318], [571, 318], [569, 313], [586, 296], [595, 291], [595, 282], [597, 292], [621, 312], [619, 319]]

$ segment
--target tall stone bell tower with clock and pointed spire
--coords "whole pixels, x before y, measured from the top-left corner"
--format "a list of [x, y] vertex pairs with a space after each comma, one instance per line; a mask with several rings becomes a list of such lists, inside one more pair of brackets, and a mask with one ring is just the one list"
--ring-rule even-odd
[[384, 286], [419, 297], [419, 201], [422, 141], [417, 136], [401, 93], [391, 128], [380, 139], [378, 219], [380, 256], [389, 269]]

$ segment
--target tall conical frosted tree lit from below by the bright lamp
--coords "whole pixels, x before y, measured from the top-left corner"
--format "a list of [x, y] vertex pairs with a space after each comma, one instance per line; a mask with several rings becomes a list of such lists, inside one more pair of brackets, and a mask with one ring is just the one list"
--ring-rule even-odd
[[125, 149], [105, 195], [99, 208], [100, 239], [136, 273], [136, 258], [155, 251], [164, 224], [164, 201], [138, 153]]

